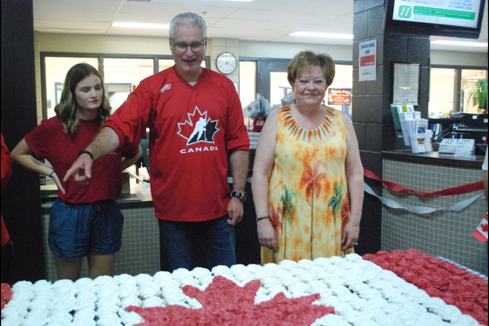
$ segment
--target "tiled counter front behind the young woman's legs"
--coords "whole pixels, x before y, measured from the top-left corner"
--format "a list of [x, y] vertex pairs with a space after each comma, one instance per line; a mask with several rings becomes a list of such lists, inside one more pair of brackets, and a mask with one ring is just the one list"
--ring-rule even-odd
[[[122, 231], [122, 248], [116, 254], [114, 274], [154, 275], [159, 268], [159, 235], [158, 222], [154, 217], [153, 207], [122, 209], [124, 228]], [[47, 230], [49, 214], [43, 215], [43, 241], [46, 279], [56, 281], [56, 268], [48, 248]], [[82, 277], [88, 277], [88, 263], [84, 259]]]

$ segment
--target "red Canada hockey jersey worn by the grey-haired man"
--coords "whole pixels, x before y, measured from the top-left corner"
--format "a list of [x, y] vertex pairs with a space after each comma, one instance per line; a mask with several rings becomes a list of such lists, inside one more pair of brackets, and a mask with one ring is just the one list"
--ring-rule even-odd
[[241, 103], [231, 80], [209, 69], [195, 86], [168, 68], [144, 79], [104, 124], [123, 149], [150, 129], [154, 212], [168, 221], [207, 221], [227, 214], [227, 153], [248, 150]]

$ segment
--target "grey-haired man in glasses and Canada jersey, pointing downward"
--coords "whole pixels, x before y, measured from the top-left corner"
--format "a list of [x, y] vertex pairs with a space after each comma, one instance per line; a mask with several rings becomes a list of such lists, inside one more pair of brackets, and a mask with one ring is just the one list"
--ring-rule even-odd
[[[202, 17], [175, 16], [169, 34], [175, 65], [142, 80], [64, 179], [100, 178], [92, 171], [94, 161], [139, 144], [149, 128], [151, 195], [168, 269], [198, 266], [200, 243], [207, 268], [231, 266], [250, 146], [241, 103], [228, 77], [201, 67], [207, 46]], [[233, 192], [227, 181], [228, 153]]]

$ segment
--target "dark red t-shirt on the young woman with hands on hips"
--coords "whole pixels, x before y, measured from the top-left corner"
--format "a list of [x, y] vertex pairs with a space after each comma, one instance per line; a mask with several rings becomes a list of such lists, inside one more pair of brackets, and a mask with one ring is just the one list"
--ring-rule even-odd
[[[65, 133], [58, 117], [43, 120], [25, 136], [37, 159], [46, 158], [60, 179], [71, 167], [78, 152], [85, 149], [100, 131], [97, 120], [79, 120], [75, 135]], [[128, 155], [130, 157], [130, 154]], [[90, 184], [80, 185], [69, 178], [63, 183], [66, 194], [58, 197], [70, 204], [87, 204], [101, 200], [117, 200], [122, 190], [122, 152], [117, 150], [96, 160]]]

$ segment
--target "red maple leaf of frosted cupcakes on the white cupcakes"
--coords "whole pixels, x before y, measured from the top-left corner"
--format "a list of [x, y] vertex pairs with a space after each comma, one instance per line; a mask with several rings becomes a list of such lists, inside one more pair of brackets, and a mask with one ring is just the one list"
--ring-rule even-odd
[[255, 305], [259, 287], [259, 280], [240, 287], [231, 280], [216, 276], [204, 291], [191, 285], [182, 288], [186, 295], [196, 298], [202, 308], [129, 306], [125, 310], [137, 312], [145, 319], [137, 326], [310, 325], [317, 318], [334, 313], [333, 307], [312, 304], [319, 294], [288, 298], [280, 292], [271, 300]]

